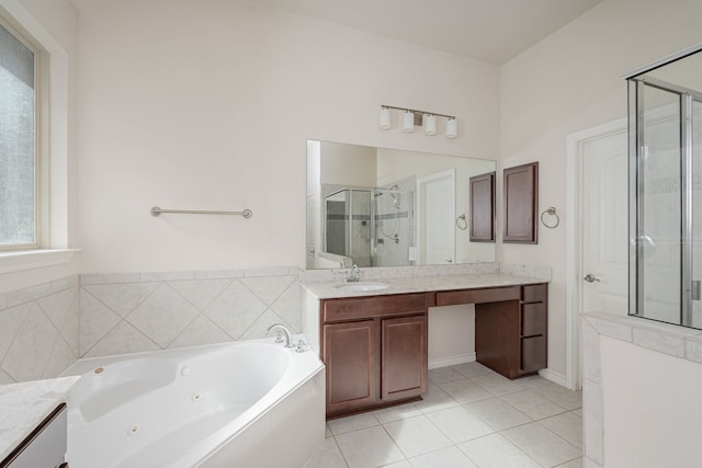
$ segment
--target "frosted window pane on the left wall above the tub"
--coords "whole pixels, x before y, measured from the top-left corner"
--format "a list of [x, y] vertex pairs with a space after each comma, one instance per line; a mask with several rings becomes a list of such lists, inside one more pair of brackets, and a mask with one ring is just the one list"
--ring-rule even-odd
[[38, 246], [37, 53], [0, 22], [0, 250]]

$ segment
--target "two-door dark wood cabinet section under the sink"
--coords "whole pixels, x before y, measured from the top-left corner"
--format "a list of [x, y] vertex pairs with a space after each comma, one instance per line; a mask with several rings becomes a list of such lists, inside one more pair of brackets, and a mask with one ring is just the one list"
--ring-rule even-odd
[[327, 418], [427, 391], [427, 309], [423, 293], [322, 300]]

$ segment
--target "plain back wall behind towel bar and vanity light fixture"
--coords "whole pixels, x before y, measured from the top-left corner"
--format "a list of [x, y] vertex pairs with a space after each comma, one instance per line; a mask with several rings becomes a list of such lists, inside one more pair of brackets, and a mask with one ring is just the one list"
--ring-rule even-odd
[[[307, 139], [498, 157], [491, 65], [245, 1], [105, 2], [80, 47], [83, 273], [304, 265]], [[458, 138], [380, 130], [381, 104], [455, 114]]]

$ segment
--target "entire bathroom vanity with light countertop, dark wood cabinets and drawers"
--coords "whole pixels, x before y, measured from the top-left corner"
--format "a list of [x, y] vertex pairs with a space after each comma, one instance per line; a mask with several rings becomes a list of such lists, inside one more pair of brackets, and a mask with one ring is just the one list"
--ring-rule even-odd
[[421, 398], [434, 307], [474, 304], [477, 362], [505, 377], [547, 365], [543, 276], [496, 271], [375, 278], [370, 290], [331, 282], [303, 287], [304, 333], [327, 367], [328, 419]]

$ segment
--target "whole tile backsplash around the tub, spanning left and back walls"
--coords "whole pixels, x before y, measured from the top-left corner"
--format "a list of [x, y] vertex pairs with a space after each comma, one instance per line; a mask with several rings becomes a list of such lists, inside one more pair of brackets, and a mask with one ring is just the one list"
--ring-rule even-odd
[[302, 327], [298, 267], [90, 274], [0, 295], [0, 385], [79, 357], [262, 338]]

